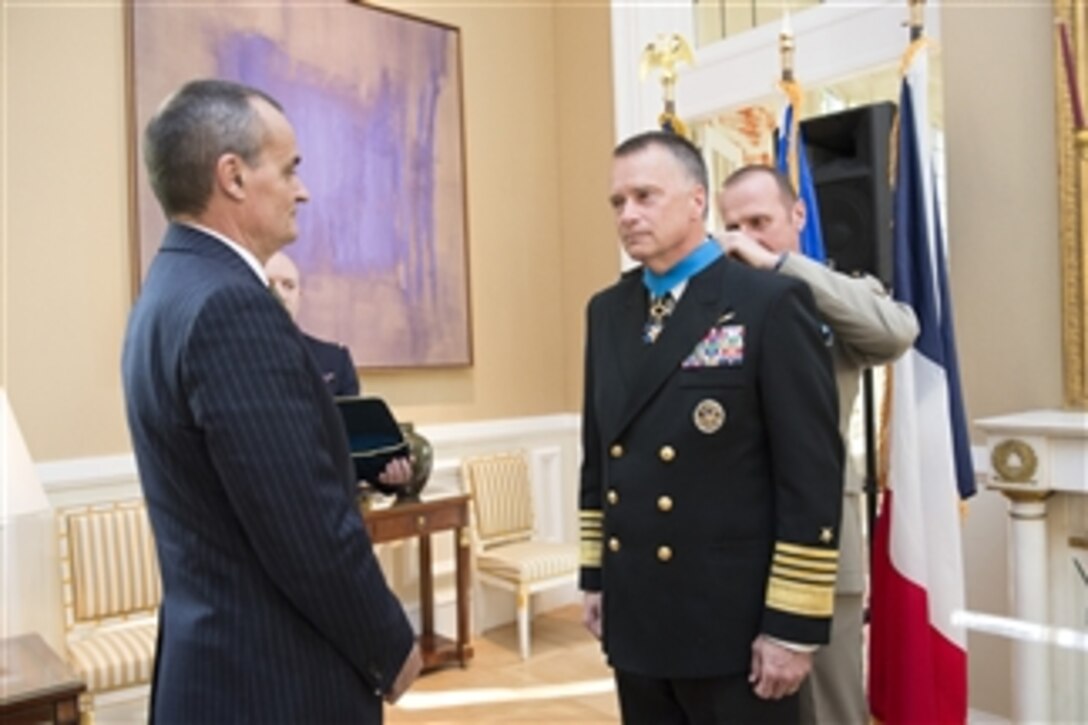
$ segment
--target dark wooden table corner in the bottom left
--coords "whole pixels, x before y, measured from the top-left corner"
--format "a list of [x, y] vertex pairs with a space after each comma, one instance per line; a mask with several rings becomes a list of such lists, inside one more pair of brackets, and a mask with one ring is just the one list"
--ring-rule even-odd
[[0, 723], [74, 725], [85, 689], [40, 635], [0, 640]]

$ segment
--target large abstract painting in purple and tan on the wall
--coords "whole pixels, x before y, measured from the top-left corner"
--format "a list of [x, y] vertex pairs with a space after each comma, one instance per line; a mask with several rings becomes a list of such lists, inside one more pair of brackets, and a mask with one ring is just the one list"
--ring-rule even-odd
[[129, 0], [128, 13], [139, 279], [165, 228], [139, 136], [186, 81], [237, 81], [276, 98], [298, 137], [310, 200], [285, 251], [299, 325], [363, 368], [470, 364], [457, 28], [346, 0]]

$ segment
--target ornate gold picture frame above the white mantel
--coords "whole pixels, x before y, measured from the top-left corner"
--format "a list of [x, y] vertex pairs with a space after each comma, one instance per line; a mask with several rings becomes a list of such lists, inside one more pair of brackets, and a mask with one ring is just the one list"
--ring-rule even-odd
[[[1076, 128], [1068, 65], [1081, 107], [1088, 99], [1088, 12], [1081, 0], [1054, 0], [1058, 183], [1062, 260], [1062, 369], [1066, 407], [1088, 408], [1088, 128]], [[1060, 34], [1067, 32], [1070, 63]]]

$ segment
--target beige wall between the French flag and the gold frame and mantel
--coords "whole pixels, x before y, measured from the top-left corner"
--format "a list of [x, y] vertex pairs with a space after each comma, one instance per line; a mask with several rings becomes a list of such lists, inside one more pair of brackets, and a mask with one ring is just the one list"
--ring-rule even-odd
[[[969, 419], [1062, 402], [1053, 32], [1049, 2], [941, 10], [948, 239]], [[969, 610], [1007, 614], [1005, 512], [991, 491], [970, 505]], [[972, 706], [1010, 717], [1009, 641], [970, 634], [968, 648]]]

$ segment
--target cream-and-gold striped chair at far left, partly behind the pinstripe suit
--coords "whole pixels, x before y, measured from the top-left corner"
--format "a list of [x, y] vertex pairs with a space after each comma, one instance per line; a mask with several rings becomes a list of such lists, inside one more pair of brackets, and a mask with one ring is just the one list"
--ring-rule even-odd
[[58, 513], [67, 659], [103, 692], [151, 681], [162, 585], [143, 500]]

